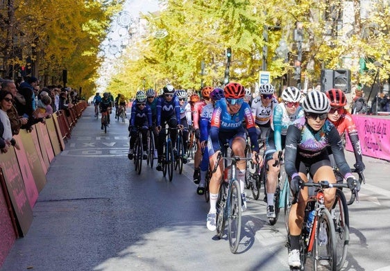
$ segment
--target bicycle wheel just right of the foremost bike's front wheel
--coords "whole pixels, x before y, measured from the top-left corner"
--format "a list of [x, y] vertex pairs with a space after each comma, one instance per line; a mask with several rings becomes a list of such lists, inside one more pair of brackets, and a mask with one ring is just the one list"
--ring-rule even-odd
[[330, 213], [332, 214], [336, 233], [337, 270], [341, 270], [348, 253], [349, 214], [346, 196], [339, 189], [336, 190], [336, 198]]

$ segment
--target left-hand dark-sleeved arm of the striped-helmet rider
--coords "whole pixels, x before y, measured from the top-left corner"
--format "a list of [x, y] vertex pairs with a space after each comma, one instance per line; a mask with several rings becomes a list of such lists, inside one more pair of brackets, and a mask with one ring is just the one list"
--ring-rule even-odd
[[287, 128], [285, 145], [285, 171], [290, 177], [298, 175], [296, 170], [297, 147], [300, 143], [300, 130], [295, 125], [289, 125]]

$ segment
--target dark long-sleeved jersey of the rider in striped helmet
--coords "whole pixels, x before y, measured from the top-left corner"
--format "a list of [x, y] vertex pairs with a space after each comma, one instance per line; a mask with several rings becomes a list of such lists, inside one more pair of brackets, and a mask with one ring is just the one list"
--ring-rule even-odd
[[343, 146], [339, 132], [327, 119], [319, 131], [314, 131], [306, 123], [303, 116], [289, 125], [287, 129], [285, 145], [285, 171], [290, 177], [295, 177], [298, 172], [298, 162], [305, 164], [314, 163], [319, 157], [328, 158], [326, 146], [330, 145], [334, 160], [341, 174], [346, 178], [350, 177], [350, 167], [344, 157]]

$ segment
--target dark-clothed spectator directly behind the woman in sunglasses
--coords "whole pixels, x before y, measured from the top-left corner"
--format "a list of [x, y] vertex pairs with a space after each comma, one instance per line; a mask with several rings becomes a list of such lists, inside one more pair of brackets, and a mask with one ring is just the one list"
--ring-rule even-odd
[[28, 118], [19, 116], [17, 108], [15, 107], [15, 97], [17, 97], [18, 94], [15, 82], [12, 80], [4, 80], [1, 84], [1, 89], [2, 91], [9, 91], [14, 97], [14, 102], [12, 103], [10, 110], [7, 110], [7, 115], [8, 119], [10, 119], [12, 135], [19, 134], [20, 128], [22, 127], [22, 125], [25, 125], [27, 123]]

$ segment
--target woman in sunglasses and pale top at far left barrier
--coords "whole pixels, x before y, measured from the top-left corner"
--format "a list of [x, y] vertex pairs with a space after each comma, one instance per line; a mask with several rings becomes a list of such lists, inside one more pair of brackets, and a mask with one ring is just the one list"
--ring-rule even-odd
[[10, 119], [8, 118], [7, 111], [12, 107], [13, 96], [10, 91], [0, 91], [0, 121], [3, 123], [3, 131], [0, 131], [0, 137], [6, 141], [9, 145], [14, 146], [19, 150], [19, 145], [12, 138], [12, 130]]

